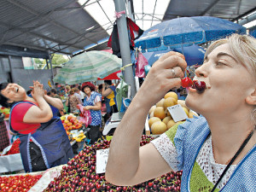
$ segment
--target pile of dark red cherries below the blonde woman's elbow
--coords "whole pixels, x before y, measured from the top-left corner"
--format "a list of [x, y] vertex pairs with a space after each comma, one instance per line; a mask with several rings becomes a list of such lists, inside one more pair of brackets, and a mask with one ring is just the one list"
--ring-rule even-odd
[[[140, 145], [153, 140], [153, 137], [142, 136]], [[96, 174], [96, 150], [109, 148], [110, 142], [102, 140], [86, 146], [67, 166], [63, 166], [61, 175], [51, 181], [44, 192], [49, 191], [180, 191], [182, 172], [169, 172], [161, 177], [129, 187], [115, 186], [108, 183], [105, 174]]]

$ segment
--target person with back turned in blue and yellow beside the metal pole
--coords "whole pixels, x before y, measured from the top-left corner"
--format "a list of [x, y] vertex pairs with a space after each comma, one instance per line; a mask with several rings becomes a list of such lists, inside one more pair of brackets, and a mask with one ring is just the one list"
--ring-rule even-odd
[[115, 86], [112, 85], [111, 80], [104, 80], [104, 84], [102, 84], [102, 96], [105, 96], [104, 100], [106, 103], [108, 118], [112, 115], [112, 113], [119, 112], [116, 106]]

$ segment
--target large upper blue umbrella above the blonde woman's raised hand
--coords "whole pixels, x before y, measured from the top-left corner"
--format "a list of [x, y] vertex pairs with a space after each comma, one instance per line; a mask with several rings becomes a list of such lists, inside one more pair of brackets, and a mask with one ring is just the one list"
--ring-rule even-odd
[[230, 20], [210, 16], [181, 17], [152, 26], [137, 39], [142, 49], [177, 48], [203, 44], [231, 33], [246, 33], [246, 28]]

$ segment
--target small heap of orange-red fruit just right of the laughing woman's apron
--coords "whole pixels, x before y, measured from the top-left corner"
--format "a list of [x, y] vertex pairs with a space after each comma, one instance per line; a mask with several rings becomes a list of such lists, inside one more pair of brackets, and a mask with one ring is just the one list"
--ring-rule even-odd
[[61, 122], [66, 131], [79, 130], [83, 124], [72, 113], [61, 116]]

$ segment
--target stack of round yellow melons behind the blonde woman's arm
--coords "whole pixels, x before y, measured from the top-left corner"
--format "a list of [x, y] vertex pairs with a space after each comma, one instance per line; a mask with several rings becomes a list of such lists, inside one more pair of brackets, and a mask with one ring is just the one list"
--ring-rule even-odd
[[151, 129], [153, 135], [159, 135], [170, 129], [173, 125], [180, 123], [180, 121], [175, 122], [172, 119], [172, 115], [167, 110], [168, 107], [173, 105], [180, 104], [184, 112], [188, 115], [189, 118], [193, 118], [193, 115], [198, 116], [197, 113], [190, 111], [186, 106], [185, 101], [178, 100], [177, 94], [173, 91], [166, 93], [164, 98], [152, 106], [148, 112], [149, 119], [148, 125]]

